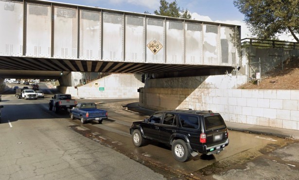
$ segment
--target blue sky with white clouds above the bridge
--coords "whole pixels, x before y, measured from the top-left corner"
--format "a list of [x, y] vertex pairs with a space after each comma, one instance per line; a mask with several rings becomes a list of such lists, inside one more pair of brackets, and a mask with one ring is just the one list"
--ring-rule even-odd
[[[160, 0], [52, 0], [84, 6], [96, 6], [105, 9], [154, 14], [160, 6]], [[173, 2], [174, 0], [167, 0]], [[233, 0], [176, 0], [178, 7], [188, 9], [193, 19], [241, 25], [241, 38], [252, 37], [243, 22], [244, 15], [233, 5]], [[280, 36], [281, 40], [292, 40]]]

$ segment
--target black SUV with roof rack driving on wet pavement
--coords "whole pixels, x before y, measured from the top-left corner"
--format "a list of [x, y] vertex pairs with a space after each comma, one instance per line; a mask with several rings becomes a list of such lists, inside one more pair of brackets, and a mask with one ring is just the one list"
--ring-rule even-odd
[[144, 121], [133, 122], [130, 134], [137, 147], [142, 146], [145, 139], [170, 145], [179, 162], [198, 153], [220, 153], [229, 145], [229, 132], [223, 118], [211, 110], [158, 111]]

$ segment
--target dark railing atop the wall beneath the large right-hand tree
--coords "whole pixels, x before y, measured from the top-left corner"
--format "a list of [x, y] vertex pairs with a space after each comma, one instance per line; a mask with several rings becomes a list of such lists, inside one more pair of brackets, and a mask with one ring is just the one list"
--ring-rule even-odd
[[255, 38], [241, 39], [241, 48], [245, 48], [249, 46], [254, 46], [258, 48], [299, 49], [299, 42], [289, 42], [289, 41], [269, 40], [269, 39], [255, 39]]

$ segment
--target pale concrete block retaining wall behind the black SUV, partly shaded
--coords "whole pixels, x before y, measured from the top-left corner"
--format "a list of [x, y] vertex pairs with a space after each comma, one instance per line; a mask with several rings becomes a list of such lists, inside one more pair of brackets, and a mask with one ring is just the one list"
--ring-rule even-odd
[[144, 108], [212, 110], [221, 113], [228, 122], [299, 130], [299, 90], [198, 86], [196, 89], [145, 87], [141, 91], [140, 105]]

